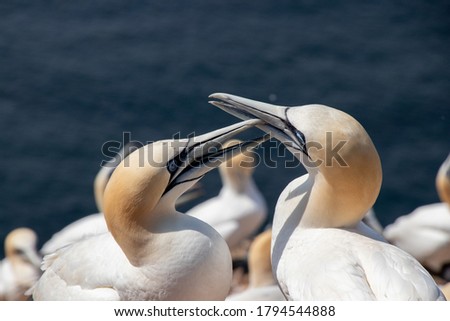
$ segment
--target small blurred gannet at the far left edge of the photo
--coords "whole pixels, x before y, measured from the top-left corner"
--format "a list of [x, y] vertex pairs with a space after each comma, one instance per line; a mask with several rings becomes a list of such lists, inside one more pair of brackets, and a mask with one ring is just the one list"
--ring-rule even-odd
[[5, 238], [5, 258], [0, 261], [0, 300], [27, 300], [25, 295], [39, 278], [41, 258], [36, 250], [36, 233], [17, 228]]

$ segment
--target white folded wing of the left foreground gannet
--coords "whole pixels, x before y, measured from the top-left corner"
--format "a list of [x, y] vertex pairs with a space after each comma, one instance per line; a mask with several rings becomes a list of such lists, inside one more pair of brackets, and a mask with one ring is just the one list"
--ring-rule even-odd
[[42, 269], [32, 289], [34, 300], [119, 300], [117, 288], [132, 280], [130, 271], [135, 270], [110, 233], [47, 255]]

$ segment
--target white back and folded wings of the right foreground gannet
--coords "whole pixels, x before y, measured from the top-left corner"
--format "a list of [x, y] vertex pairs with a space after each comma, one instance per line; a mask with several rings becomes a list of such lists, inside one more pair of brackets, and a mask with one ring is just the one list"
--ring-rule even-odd
[[410, 255], [353, 230], [299, 229], [284, 246], [276, 272], [290, 300], [443, 299]]

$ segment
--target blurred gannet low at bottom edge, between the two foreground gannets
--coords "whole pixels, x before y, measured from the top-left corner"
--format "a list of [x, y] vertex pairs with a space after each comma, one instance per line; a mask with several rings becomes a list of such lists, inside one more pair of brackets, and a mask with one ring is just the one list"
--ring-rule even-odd
[[227, 301], [285, 301], [272, 274], [270, 262], [271, 229], [255, 237], [248, 252], [249, 284], [247, 289], [227, 297]]

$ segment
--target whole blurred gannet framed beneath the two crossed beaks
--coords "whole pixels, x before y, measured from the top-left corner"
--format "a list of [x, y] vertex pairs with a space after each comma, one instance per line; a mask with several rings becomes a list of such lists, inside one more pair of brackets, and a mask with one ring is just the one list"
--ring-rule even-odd
[[[230, 140], [225, 147], [237, 143], [240, 141]], [[219, 195], [186, 212], [216, 229], [231, 251], [253, 237], [267, 218], [266, 201], [252, 178], [257, 160], [257, 155], [248, 150], [222, 163]]]

